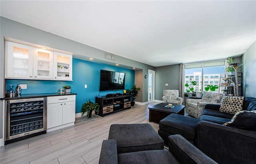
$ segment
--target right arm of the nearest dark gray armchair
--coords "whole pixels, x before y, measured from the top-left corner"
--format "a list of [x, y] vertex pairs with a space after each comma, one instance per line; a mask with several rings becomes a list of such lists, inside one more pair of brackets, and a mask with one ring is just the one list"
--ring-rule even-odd
[[169, 151], [180, 164], [216, 164], [180, 134], [171, 135], [168, 139]]

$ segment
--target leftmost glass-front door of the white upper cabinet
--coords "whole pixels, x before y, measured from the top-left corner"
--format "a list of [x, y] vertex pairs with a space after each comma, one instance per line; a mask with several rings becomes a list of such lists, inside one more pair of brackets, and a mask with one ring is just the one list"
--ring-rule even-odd
[[6, 41], [6, 78], [33, 78], [33, 47]]

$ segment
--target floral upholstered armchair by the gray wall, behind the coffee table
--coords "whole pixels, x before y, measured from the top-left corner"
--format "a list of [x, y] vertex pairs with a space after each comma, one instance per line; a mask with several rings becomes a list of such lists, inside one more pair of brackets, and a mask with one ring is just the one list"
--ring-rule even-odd
[[178, 104], [182, 105], [183, 99], [179, 97], [178, 90], [164, 90], [163, 96], [164, 103]]

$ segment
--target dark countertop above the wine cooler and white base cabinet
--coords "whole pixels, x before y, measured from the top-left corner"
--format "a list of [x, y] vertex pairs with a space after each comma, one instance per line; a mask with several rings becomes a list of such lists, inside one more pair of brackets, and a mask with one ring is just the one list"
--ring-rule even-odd
[[13, 98], [1, 98], [1, 100], [14, 100], [14, 99], [30, 99], [39, 97], [49, 97], [49, 96], [66, 96], [66, 95], [77, 95], [77, 93], [36, 93], [36, 94], [22, 94], [20, 97]]

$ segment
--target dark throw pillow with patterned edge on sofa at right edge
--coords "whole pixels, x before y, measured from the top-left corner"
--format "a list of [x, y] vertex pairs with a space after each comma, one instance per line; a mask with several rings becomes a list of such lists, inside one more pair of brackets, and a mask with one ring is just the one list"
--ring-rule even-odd
[[239, 111], [234, 115], [231, 121], [223, 125], [256, 131], [256, 111]]

